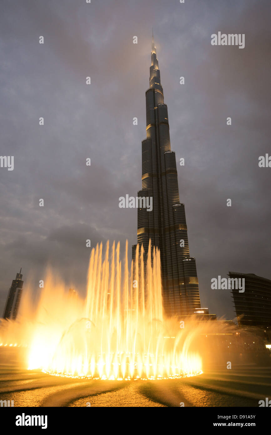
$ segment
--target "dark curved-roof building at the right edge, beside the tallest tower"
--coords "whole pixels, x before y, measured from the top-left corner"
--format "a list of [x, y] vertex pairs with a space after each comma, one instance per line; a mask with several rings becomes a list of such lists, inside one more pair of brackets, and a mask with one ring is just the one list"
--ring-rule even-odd
[[[245, 291], [231, 290], [239, 326], [271, 328], [271, 280], [254, 273], [229, 272], [230, 278], [245, 278]], [[238, 283], [238, 281], [235, 281]]]

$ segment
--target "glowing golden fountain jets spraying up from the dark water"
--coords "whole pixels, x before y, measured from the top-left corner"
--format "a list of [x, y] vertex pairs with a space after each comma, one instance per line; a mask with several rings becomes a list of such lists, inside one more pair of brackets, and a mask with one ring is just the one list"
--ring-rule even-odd
[[28, 367], [100, 379], [175, 378], [201, 372], [192, 335], [162, 309], [160, 253], [143, 249], [129, 267], [119, 243], [92, 250], [85, 300], [47, 277], [36, 311]]

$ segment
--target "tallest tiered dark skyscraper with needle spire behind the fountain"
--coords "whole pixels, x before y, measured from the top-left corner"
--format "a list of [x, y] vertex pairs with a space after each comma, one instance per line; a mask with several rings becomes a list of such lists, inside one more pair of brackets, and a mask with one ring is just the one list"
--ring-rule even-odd
[[[185, 206], [180, 203], [175, 152], [171, 151], [169, 117], [152, 33], [150, 87], [146, 90], [146, 139], [142, 141], [142, 190], [152, 197], [152, 211], [138, 208], [137, 243], [145, 256], [159, 248], [163, 301], [168, 315], [190, 315], [200, 308], [195, 258], [190, 257]], [[132, 247], [135, 260], [136, 246]], [[144, 258], [145, 260], [145, 258]]]

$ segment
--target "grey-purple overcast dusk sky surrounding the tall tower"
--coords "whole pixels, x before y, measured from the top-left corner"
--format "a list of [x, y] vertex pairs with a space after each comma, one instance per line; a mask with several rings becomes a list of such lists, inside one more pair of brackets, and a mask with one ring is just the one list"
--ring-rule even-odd
[[[0, 315], [21, 266], [25, 287], [50, 263], [83, 294], [86, 239], [136, 243], [119, 197], [141, 188], [152, 27], [202, 306], [234, 318], [210, 285], [228, 271], [271, 279], [271, 168], [258, 167], [271, 154], [270, 12], [269, 0], [1, 1], [0, 154], [14, 170], [0, 168]], [[212, 46], [218, 31], [245, 33], [245, 48]]]

